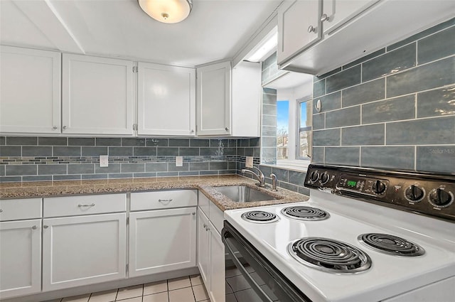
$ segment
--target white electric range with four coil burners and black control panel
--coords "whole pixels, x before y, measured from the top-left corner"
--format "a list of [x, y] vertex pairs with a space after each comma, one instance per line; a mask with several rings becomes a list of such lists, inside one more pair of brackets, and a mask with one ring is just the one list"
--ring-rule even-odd
[[311, 165], [305, 185], [304, 203], [225, 211], [227, 252], [262, 278], [249, 301], [455, 301], [453, 176]]

